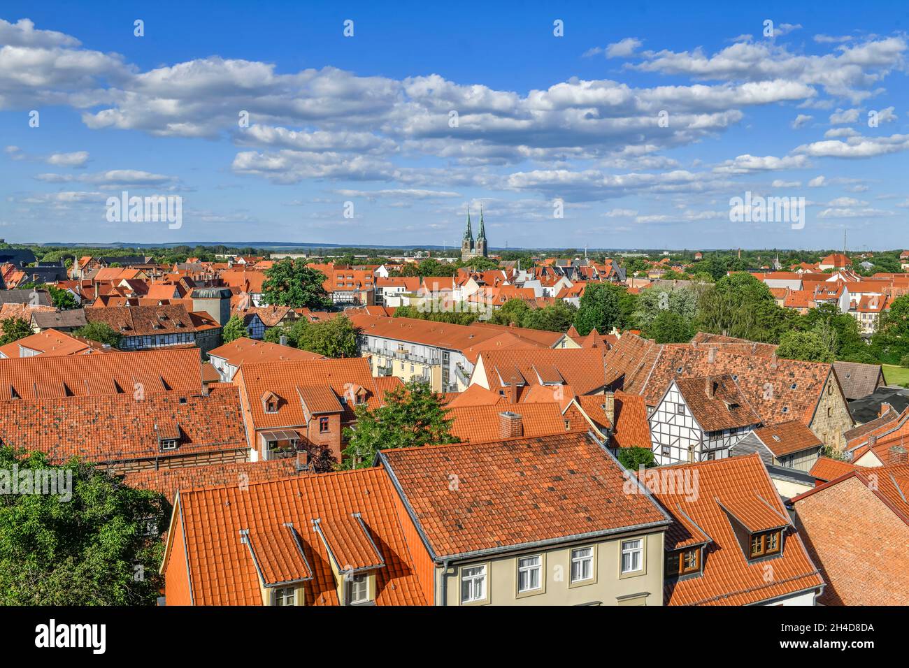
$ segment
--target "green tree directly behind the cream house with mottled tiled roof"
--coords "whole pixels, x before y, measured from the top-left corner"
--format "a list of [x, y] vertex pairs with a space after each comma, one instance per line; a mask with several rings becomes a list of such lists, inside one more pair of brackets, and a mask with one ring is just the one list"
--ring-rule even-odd
[[344, 469], [372, 466], [379, 450], [458, 443], [441, 395], [416, 380], [386, 392], [385, 405], [369, 410], [361, 404], [354, 410], [356, 426], [345, 428]]

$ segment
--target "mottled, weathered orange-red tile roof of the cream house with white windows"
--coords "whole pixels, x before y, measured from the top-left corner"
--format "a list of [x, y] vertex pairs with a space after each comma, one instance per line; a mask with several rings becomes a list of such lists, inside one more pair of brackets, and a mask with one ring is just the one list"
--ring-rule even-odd
[[[436, 561], [667, 523], [648, 495], [624, 494], [624, 469], [583, 431], [383, 450], [379, 458]], [[451, 474], [454, 494], [439, 484]]]

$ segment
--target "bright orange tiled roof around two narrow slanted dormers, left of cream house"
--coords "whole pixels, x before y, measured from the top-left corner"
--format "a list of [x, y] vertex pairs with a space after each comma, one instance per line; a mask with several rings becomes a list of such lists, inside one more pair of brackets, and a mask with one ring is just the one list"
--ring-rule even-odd
[[352, 513], [360, 513], [385, 559], [385, 566], [375, 572], [375, 603], [425, 605], [426, 596], [393, 510], [395, 498], [388, 475], [378, 468], [303, 475], [248, 487], [181, 491], [175, 513], [183, 535], [169, 536], [165, 564], [173, 553], [173, 541], [185, 541], [196, 605], [261, 605], [255, 563], [239, 532], [275, 532], [292, 523], [311, 567], [312, 579], [303, 583], [306, 604], [338, 605], [329, 553], [312, 530], [312, 522], [316, 518], [322, 523], [345, 522]]

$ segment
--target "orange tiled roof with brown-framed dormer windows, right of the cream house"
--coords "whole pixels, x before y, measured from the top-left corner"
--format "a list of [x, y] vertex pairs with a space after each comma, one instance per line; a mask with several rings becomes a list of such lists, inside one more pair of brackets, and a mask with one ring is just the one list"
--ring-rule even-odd
[[[749, 562], [735, 532], [734, 520], [754, 525], [756, 530], [789, 526], [783, 502], [757, 454], [718, 459], [698, 464], [679, 464], [644, 472], [643, 482], [675, 519], [666, 533], [666, 549], [682, 547], [694, 523], [709, 537], [704, 558], [704, 573], [698, 577], [669, 580], [664, 585], [668, 605], [747, 605], [767, 599], [803, 592], [824, 584], [804, 549], [801, 537], [790, 528], [784, 539], [783, 553], [767, 561]], [[697, 494], [686, 492], [684, 485], [658, 483], [661, 472], [696, 472]], [[681, 526], [679, 526], [681, 525]], [[680, 540], [681, 539], [681, 540]], [[695, 541], [701, 542], [701, 541]], [[773, 578], [766, 577], [767, 564], [773, 565]]]

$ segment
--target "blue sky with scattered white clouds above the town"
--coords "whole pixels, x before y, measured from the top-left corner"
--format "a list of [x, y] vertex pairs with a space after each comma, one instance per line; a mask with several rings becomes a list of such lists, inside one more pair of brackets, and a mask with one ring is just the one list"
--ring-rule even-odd
[[0, 237], [459, 244], [482, 204], [494, 247], [907, 244], [905, 3], [383, 5], [6, 2]]

